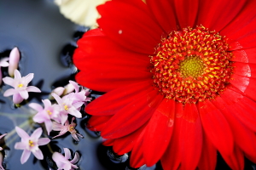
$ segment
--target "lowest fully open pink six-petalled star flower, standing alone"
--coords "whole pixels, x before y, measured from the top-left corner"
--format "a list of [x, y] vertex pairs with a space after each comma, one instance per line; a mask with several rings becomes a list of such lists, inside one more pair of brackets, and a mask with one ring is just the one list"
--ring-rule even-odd
[[20, 127], [15, 127], [16, 132], [21, 138], [21, 142], [17, 142], [15, 144], [16, 150], [24, 150], [22, 153], [22, 156], [20, 157], [21, 164], [25, 163], [31, 152], [38, 160], [43, 160], [44, 155], [42, 151], [38, 148], [40, 145], [48, 144], [50, 139], [49, 138], [40, 138], [41, 134], [43, 133], [43, 130], [41, 127], [38, 127], [31, 136], [29, 136], [23, 129]]

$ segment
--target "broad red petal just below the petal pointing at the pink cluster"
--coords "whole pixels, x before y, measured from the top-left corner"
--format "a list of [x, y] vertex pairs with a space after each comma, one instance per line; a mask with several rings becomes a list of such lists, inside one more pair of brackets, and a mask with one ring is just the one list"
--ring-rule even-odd
[[102, 137], [115, 139], [134, 132], [143, 126], [152, 116], [163, 96], [152, 92], [134, 99], [129, 105], [119, 110], [102, 130]]

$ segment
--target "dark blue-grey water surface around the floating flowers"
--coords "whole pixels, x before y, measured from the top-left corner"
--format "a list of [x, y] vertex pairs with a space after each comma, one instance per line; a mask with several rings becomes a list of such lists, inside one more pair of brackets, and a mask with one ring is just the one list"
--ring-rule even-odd
[[[30, 93], [28, 102], [41, 104], [41, 99], [47, 99], [54, 87], [64, 86], [69, 79], [73, 79], [76, 68], [72, 65], [71, 55], [76, 45], [76, 40], [86, 28], [77, 26], [66, 20], [59, 9], [50, 0], [0, 0], [0, 58], [7, 57], [12, 48], [20, 50], [20, 73], [24, 77], [28, 73], [34, 73], [33, 86], [42, 90], [41, 94]], [[2, 69], [7, 76], [7, 69]], [[102, 139], [99, 133], [90, 132], [84, 123], [88, 116], [83, 114], [82, 119], [77, 119], [76, 129], [84, 136], [79, 142], [75, 142], [67, 133], [63, 137], [52, 139], [47, 146], [40, 147], [44, 152], [44, 160], [38, 161], [33, 155], [25, 164], [20, 164], [20, 156], [23, 150], [15, 150], [15, 142], [20, 137], [15, 133], [15, 126], [20, 126], [27, 133], [39, 127], [32, 124], [30, 118], [32, 111], [27, 103], [20, 108], [15, 108], [11, 98], [4, 98], [3, 92], [10, 88], [7, 85], [1, 87], [0, 93], [0, 133], [9, 133], [0, 145], [3, 146], [3, 167], [9, 170], [41, 170], [55, 168], [51, 161], [52, 151], [64, 152], [68, 148], [79, 152], [81, 156], [79, 169], [86, 170], [128, 170], [128, 156], [117, 158], [113, 156], [110, 147], [101, 145]], [[57, 133], [50, 133], [50, 137]], [[44, 134], [44, 137], [47, 135]], [[110, 160], [110, 158], [113, 161]], [[119, 161], [125, 161], [117, 163]], [[154, 167], [142, 167], [141, 170], [161, 170], [160, 164]], [[217, 169], [229, 169], [223, 160], [218, 160]], [[253, 169], [247, 162], [245, 169]]]

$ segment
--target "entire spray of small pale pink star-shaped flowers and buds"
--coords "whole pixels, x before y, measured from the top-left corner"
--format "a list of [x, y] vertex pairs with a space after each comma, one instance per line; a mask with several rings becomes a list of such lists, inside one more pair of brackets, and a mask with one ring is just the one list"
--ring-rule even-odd
[[[9, 60], [9, 63], [7, 62]], [[0, 81], [13, 87], [7, 89], [3, 96], [8, 97], [13, 95], [13, 101], [15, 105], [20, 104], [24, 99], [28, 99], [29, 92], [40, 93], [40, 89], [34, 86], [28, 86], [29, 82], [32, 81], [34, 77], [33, 73], [28, 74], [26, 77], [21, 77], [20, 71], [17, 70], [20, 60], [20, 52], [18, 48], [14, 48], [9, 58], [4, 58], [0, 60], [0, 71], [1, 66], [9, 66], [9, 76], [2, 78], [2, 72], [0, 72]], [[12, 78], [14, 77], [14, 78]], [[0, 82], [0, 84], [1, 84]], [[87, 105], [87, 102], [91, 100], [88, 97], [90, 95], [90, 90], [88, 88], [79, 87], [79, 84], [73, 81], [69, 81], [67, 86], [64, 88], [55, 88], [51, 93], [51, 99], [55, 99], [52, 103], [49, 99], [42, 99], [44, 107], [37, 103], [31, 103], [29, 106], [37, 111], [37, 113], [32, 117], [34, 122], [44, 123], [46, 131], [49, 133], [54, 131], [60, 131], [58, 135], [53, 137], [59, 137], [67, 132], [71, 133], [73, 139], [79, 141], [79, 138], [84, 138], [81, 134], [77, 133], [75, 130], [76, 123], [74, 123], [75, 117], [81, 118], [82, 114], [80, 109], [82, 105]], [[68, 122], [68, 115], [73, 116], [72, 122]], [[37, 128], [31, 136], [26, 133], [20, 127], [15, 127], [16, 133], [21, 138], [20, 142], [15, 144], [16, 150], [23, 150], [20, 157], [21, 164], [25, 163], [31, 153], [38, 158], [38, 160], [44, 159], [43, 152], [39, 149], [40, 145], [49, 144], [49, 138], [40, 138], [43, 133], [42, 127]], [[3, 138], [7, 133], [0, 136]], [[3, 150], [0, 147], [0, 150]], [[72, 161], [68, 159], [71, 157], [70, 150], [64, 148], [65, 156], [60, 153], [55, 152], [52, 156], [58, 169], [73, 170], [74, 168], [79, 168], [74, 164], [79, 161], [79, 154], [76, 152]], [[1, 157], [2, 156], [2, 157]], [[3, 155], [0, 152], [0, 170], [4, 170], [2, 167]]]

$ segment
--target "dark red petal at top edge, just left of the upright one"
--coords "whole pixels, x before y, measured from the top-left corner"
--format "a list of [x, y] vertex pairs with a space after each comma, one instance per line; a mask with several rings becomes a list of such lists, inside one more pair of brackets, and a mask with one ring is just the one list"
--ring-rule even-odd
[[155, 1], [147, 0], [149, 10], [154, 14], [154, 17], [159, 22], [160, 26], [166, 33], [177, 30], [177, 23], [174, 14], [172, 1]]

